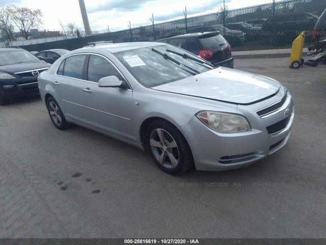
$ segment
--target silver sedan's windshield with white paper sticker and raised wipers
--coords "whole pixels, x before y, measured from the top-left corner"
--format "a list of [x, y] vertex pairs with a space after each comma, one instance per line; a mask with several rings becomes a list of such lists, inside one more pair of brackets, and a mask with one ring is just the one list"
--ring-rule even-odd
[[148, 88], [213, 69], [203, 64], [198, 56], [168, 44], [122, 51], [114, 55], [140, 84]]

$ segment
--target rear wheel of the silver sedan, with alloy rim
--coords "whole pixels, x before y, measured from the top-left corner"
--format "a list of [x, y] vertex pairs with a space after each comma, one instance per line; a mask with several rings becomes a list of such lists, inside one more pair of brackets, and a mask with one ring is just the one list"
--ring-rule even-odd
[[53, 97], [47, 99], [46, 107], [51, 121], [57, 129], [64, 130], [70, 127], [69, 122], [66, 121], [57, 101]]

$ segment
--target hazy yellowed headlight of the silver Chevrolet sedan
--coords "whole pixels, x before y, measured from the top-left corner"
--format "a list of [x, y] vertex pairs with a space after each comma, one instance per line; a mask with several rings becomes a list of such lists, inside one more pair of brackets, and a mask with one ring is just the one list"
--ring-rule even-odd
[[204, 111], [199, 112], [196, 116], [208, 128], [219, 133], [234, 133], [251, 129], [248, 120], [241, 115]]

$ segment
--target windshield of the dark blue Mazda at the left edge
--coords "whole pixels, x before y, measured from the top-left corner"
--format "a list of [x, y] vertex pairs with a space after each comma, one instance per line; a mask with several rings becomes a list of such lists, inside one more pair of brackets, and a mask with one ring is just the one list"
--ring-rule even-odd
[[12, 50], [0, 52], [0, 65], [11, 65], [31, 61], [40, 61], [30, 52], [25, 50]]

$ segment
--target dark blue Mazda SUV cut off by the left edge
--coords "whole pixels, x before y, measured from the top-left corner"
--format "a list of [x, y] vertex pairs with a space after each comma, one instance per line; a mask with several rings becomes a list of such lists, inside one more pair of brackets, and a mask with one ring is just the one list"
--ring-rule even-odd
[[49, 67], [22, 48], [0, 48], [0, 105], [10, 97], [39, 92], [38, 75]]

